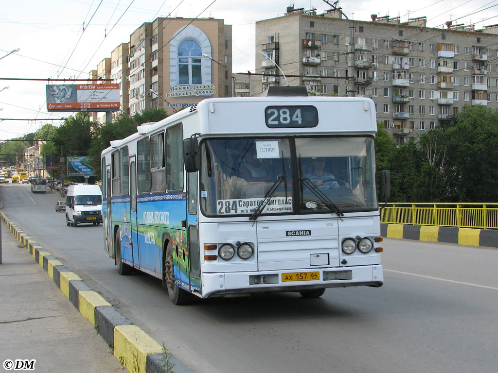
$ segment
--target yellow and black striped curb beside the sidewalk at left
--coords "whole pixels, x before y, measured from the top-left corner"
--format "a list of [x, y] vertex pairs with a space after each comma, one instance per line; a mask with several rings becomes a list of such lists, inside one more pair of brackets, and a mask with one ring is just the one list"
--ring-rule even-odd
[[169, 372], [169, 368], [174, 369], [175, 373], [194, 373], [172, 354], [166, 362], [165, 352], [168, 351], [163, 345], [129, 321], [78, 275], [21, 231], [4, 213], [0, 212], [0, 218], [33, 259], [47, 271], [61, 292], [113, 348], [114, 356], [129, 372], [160, 373]]

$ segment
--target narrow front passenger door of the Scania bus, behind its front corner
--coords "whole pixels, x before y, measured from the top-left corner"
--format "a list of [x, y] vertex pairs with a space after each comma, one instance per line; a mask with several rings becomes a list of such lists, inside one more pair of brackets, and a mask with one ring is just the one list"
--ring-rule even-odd
[[190, 291], [202, 293], [201, 287], [201, 257], [199, 250], [199, 220], [198, 220], [198, 173], [187, 174], [187, 247], [189, 253]]

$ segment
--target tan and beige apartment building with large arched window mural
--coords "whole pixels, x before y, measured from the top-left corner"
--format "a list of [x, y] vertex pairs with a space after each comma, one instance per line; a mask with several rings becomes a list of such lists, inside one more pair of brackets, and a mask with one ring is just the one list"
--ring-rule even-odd
[[232, 26], [222, 19], [156, 18], [130, 36], [129, 115], [232, 96]]

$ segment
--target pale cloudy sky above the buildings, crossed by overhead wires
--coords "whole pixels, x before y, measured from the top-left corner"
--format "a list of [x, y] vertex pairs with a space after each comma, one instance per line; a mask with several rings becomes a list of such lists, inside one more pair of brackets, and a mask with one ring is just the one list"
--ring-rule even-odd
[[[224, 19], [232, 25], [233, 72], [254, 72], [255, 22], [282, 16], [291, 4], [315, 8], [318, 14], [330, 9], [323, 0], [4, 0], [0, 118], [5, 119], [0, 120], [0, 141], [35, 132], [45, 123], [59, 125], [60, 118], [72, 115], [47, 112], [47, 79], [88, 78], [144, 22], [167, 16]], [[498, 23], [498, 0], [344, 0], [338, 5], [349, 19], [364, 21], [377, 14], [399, 16], [402, 22], [425, 15], [427, 26], [437, 28], [448, 20], [475, 24], [476, 29]]]

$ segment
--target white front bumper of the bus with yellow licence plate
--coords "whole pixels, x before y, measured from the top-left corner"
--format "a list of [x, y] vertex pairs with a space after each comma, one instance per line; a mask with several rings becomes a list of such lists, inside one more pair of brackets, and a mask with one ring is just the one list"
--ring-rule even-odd
[[306, 270], [203, 273], [202, 297], [327, 287], [382, 286], [381, 265]]

